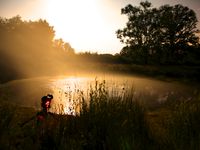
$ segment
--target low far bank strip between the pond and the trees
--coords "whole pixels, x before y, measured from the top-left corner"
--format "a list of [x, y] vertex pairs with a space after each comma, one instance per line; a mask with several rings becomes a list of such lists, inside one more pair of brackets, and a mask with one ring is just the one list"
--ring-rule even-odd
[[65, 69], [51, 70], [44, 73], [35, 72], [34, 75], [0, 77], [0, 83], [6, 83], [11, 80], [33, 78], [40, 76], [58, 76], [58, 75], [76, 75], [76, 74], [120, 74], [133, 75], [147, 78], [153, 78], [162, 81], [178, 81], [186, 84], [195, 84], [200, 82], [199, 66], [167, 66], [167, 65], [136, 65], [136, 64], [114, 64], [114, 63], [90, 63], [74, 62], [66, 63]]

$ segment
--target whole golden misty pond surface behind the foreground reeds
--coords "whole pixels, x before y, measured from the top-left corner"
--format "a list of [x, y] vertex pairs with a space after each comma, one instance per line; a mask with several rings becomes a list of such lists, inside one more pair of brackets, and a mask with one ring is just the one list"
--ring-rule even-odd
[[[105, 82], [105, 83], [104, 83]], [[103, 83], [110, 96], [123, 96], [128, 91], [136, 100], [145, 104], [163, 103], [168, 99], [192, 99], [198, 87], [175, 82], [128, 75], [59, 76], [15, 80], [0, 85], [1, 97], [10, 102], [40, 108], [41, 97], [52, 93], [51, 111], [76, 114], [84, 97], [89, 99], [90, 90]]]

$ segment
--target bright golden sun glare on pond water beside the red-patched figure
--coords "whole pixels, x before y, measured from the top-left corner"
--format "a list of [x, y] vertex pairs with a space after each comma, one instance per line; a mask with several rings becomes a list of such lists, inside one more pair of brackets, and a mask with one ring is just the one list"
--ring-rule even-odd
[[52, 83], [54, 101], [51, 111], [59, 114], [76, 115], [80, 112], [85, 78], [66, 78]]

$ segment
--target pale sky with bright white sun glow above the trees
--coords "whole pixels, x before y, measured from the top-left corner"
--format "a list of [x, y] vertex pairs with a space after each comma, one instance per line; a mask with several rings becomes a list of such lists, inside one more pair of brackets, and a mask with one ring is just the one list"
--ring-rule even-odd
[[[115, 54], [124, 46], [116, 30], [125, 27], [121, 8], [141, 0], [0, 0], [0, 16], [20, 15], [24, 20], [45, 19], [76, 52]], [[153, 7], [182, 4], [193, 9], [200, 21], [200, 0], [149, 0]], [[200, 29], [200, 23], [197, 28]]]

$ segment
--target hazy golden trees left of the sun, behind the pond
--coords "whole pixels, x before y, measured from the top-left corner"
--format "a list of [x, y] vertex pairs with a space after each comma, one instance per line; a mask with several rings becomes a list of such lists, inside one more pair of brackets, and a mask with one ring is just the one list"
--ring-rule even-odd
[[46, 20], [24, 21], [20, 16], [0, 17], [0, 79], [49, 75], [64, 69], [74, 49]]

